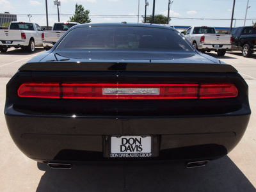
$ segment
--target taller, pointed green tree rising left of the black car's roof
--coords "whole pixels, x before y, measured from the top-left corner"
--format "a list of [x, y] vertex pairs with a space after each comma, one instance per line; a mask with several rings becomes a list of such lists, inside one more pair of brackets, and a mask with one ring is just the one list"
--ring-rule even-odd
[[84, 10], [81, 4], [76, 4], [74, 16], [70, 17], [70, 22], [79, 22], [80, 24], [91, 22], [89, 17], [89, 10]]

